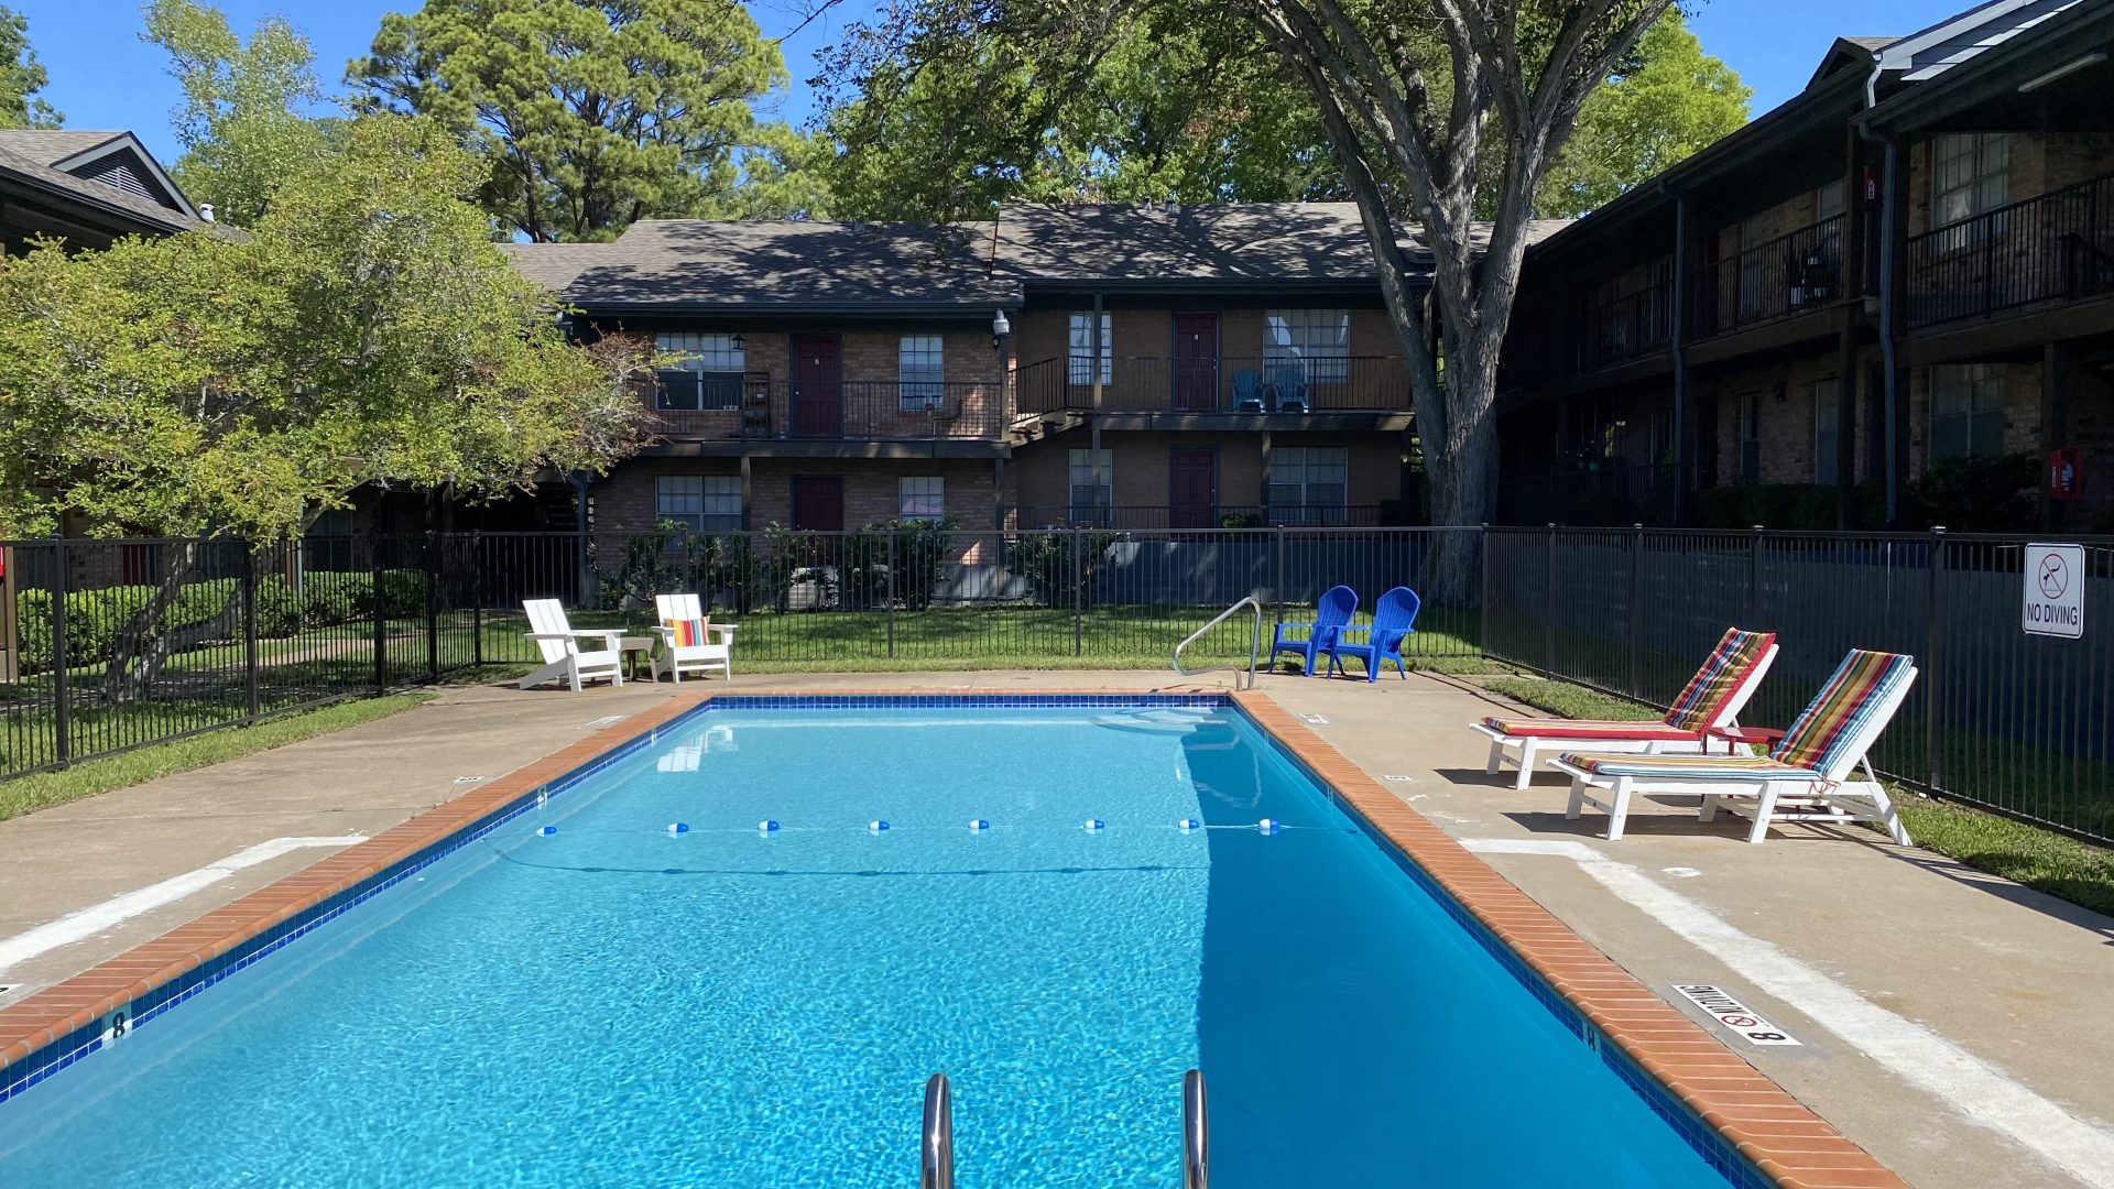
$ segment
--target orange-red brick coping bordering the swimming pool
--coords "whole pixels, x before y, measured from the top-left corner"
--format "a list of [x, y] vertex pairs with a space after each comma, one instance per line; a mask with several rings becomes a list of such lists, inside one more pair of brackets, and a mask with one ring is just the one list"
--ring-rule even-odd
[[[1137, 696], [1125, 690], [1034, 690], [1010, 698]], [[156, 988], [180, 982], [199, 967], [256, 937], [326, 906], [361, 884], [416, 861], [435, 844], [478, 829], [490, 819], [602, 757], [605, 753], [710, 702], [717, 690], [683, 692], [624, 721], [598, 730], [541, 760], [524, 764], [440, 806], [425, 810], [366, 842], [357, 842], [300, 872], [275, 880], [188, 925], [127, 950], [80, 975], [0, 1007], [0, 1071], [95, 1028], [112, 1011], [129, 1009]], [[729, 690], [729, 698], [949, 698], [947, 690]], [[964, 694], [975, 698], [977, 694]], [[994, 692], [994, 698], [1008, 694]], [[1495, 937], [1505, 941], [1541, 980], [1700, 1119], [1717, 1128], [1757, 1170], [1782, 1189], [1907, 1189], [1905, 1183], [1846, 1140], [1723, 1041], [1704, 1032], [1630, 971], [1579, 937], [1526, 893], [1471, 855], [1421, 812], [1380, 787], [1306, 724], [1260, 692], [1230, 694], [1258, 726], [1277, 736], [1368, 825], [1410, 857]], [[0, 1077], [4, 1081], [4, 1077]], [[1547, 1109], [1560, 1111], [1560, 1102]]]

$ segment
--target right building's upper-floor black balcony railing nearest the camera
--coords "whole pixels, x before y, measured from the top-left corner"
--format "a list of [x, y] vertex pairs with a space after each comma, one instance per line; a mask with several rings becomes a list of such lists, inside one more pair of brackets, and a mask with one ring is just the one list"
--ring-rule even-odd
[[1909, 328], [2114, 292], [2114, 176], [1909, 239]]

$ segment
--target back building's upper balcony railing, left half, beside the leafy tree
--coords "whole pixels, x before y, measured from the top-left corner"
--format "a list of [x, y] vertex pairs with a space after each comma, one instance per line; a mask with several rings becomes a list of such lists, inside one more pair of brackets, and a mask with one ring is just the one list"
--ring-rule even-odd
[[674, 438], [835, 442], [1004, 440], [1004, 385], [987, 381], [784, 381], [662, 372], [653, 391]]

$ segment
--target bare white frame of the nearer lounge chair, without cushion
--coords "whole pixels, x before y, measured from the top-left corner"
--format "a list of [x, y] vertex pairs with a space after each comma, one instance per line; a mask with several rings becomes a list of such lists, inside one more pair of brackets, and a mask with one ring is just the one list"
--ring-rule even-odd
[[[1856, 728], [1843, 743], [1841, 760], [1820, 770], [1820, 781], [1757, 781], [1736, 774], [1664, 781], [1651, 776], [1600, 776], [1562, 760], [1552, 760], [1552, 768], [1571, 774], [1571, 808], [1564, 810], [1564, 817], [1577, 819], [1586, 806], [1605, 810], [1607, 840], [1619, 842], [1634, 798], [1685, 795], [1698, 798], [1698, 817], [1702, 821], [1717, 821], [1721, 808], [1753, 817], [1755, 825], [1746, 834], [1748, 842], [1765, 840], [1769, 836], [1769, 819], [1778, 810], [1795, 808], [1799, 810], [1797, 821], [1873, 821], [1884, 825], [1894, 842], [1909, 846], [1909, 829], [1900, 825], [1900, 815], [1894, 812], [1894, 802], [1886, 795], [1879, 774], [1871, 770], [1871, 755], [1867, 753], [1877, 743], [1879, 732], [1894, 721], [1903, 698], [1915, 685], [1915, 675], [1917, 671], [1911, 666], [1909, 679], [1879, 700], [1875, 713], [1865, 719], [1865, 726]], [[1858, 772], [1862, 772], [1862, 779], [1856, 779]], [[1596, 798], [1592, 789], [1602, 789], [1607, 798]]]

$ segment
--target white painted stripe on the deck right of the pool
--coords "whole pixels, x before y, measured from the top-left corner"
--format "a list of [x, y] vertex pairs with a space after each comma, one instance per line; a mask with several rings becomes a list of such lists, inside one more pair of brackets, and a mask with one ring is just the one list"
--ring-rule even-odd
[[1583, 842], [1545, 838], [1463, 838], [1480, 855], [1571, 859], [1619, 899], [1647, 912], [1681, 939], [1725, 963], [1755, 988], [1782, 999], [1896, 1077], [1939, 1098], [1970, 1123], [2002, 1132], [2093, 1189], [2114, 1189], [2114, 1130], [2072, 1115], [2002, 1068], [1930, 1028], [1896, 1016], [1831, 980], [1774, 941], [1727, 925], [1693, 899], [1662, 886], [1628, 863]]

